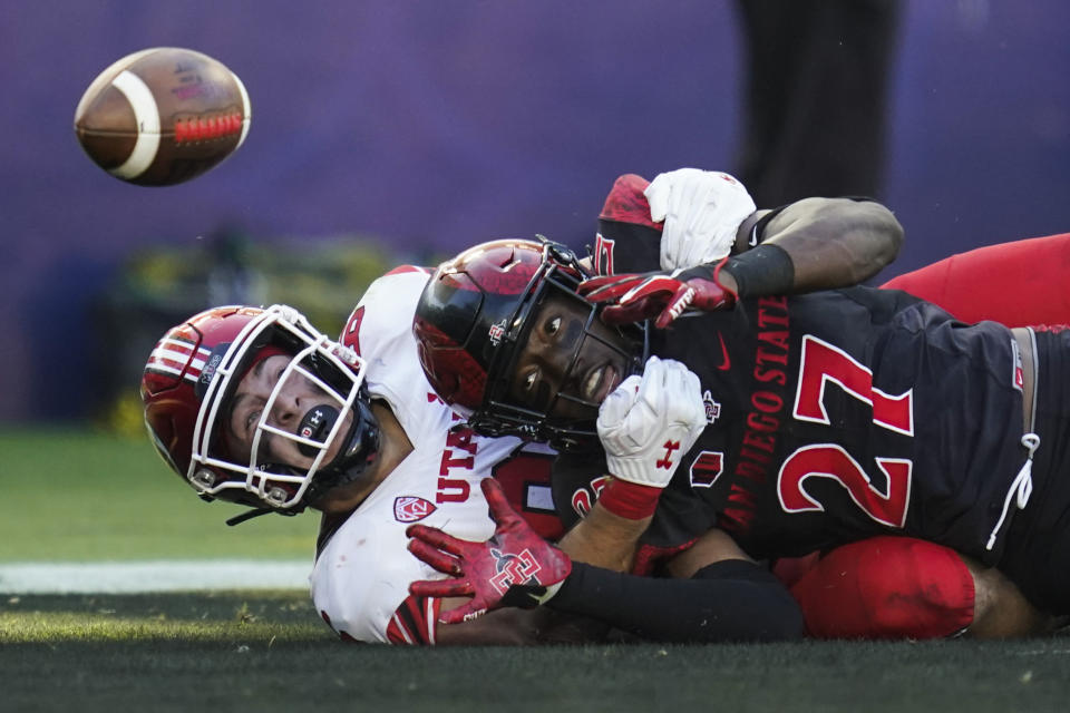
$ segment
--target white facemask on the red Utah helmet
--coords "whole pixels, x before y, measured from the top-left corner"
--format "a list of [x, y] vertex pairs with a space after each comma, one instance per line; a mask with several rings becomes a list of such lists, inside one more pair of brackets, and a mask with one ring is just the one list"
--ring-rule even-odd
[[[249, 431], [247, 453], [243, 452], [226, 436], [235, 392], [257, 364], [283, 354], [289, 361], [260, 407]], [[327, 490], [358, 478], [374, 460], [379, 429], [362, 389], [363, 377], [364, 363], [356, 352], [318, 332], [295, 310], [269, 307], [233, 342], [220, 344], [205, 363], [198, 385], [207, 385], [186, 479], [206, 499], [220, 497], [283, 514], [303, 510]], [[299, 387], [310, 394], [307, 410], [302, 404], [293, 423], [273, 423], [279, 400]], [[272, 441], [300, 453], [302, 465], [278, 462], [269, 455]], [[328, 460], [334, 443], [335, 453]]]

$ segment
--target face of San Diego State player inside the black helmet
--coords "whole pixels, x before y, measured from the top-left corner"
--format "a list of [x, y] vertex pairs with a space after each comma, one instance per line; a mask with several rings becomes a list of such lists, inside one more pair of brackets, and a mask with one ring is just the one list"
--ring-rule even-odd
[[629, 368], [628, 344], [591, 320], [588, 304], [563, 293], [551, 293], [528, 319], [533, 326], [509, 383], [510, 401], [542, 412], [552, 407], [553, 417], [596, 416], [576, 400], [601, 403], [621, 383]]

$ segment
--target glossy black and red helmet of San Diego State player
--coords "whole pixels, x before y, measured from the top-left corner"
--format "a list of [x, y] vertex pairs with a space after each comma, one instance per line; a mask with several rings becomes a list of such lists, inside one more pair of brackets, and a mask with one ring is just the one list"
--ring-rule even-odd
[[[576, 294], [586, 276], [571, 250], [542, 236], [484, 243], [438, 266], [420, 295], [412, 331], [428, 381], [477, 432], [544, 440], [557, 448], [587, 443], [596, 434], [599, 403], [558, 392], [544, 408], [531, 408], [508, 395], [532, 318], [551, 294], [576, 301], [587, 313], [571, 365], [584, 342], [594, 339], [622, 355], [628, 373], [642, 370], [641, 328], [605, 328], [609, 338], [592, 333], [599, 305]], [[562, 401], [582, 407], [572, 411], [583, 416], [555, 414]]]

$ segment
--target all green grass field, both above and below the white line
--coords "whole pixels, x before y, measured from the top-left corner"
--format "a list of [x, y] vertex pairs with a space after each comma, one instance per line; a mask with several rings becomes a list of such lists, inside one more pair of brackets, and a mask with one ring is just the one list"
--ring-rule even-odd
[[[314, 517], [200, 502], [147, 442], [0, 433], [0, 567], [311, 558]], [[303, 590], [0, 592], [0, 711], [1067, 711], [1070, 636], [440, 648], [340, 643]]]

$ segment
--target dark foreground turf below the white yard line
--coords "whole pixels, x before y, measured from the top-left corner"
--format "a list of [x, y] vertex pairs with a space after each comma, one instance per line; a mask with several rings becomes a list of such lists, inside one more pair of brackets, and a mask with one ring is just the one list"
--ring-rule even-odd
[[1066, 711], [1070, 637], [408, 648], [302, 593], [0, 602], [4, 711]]

